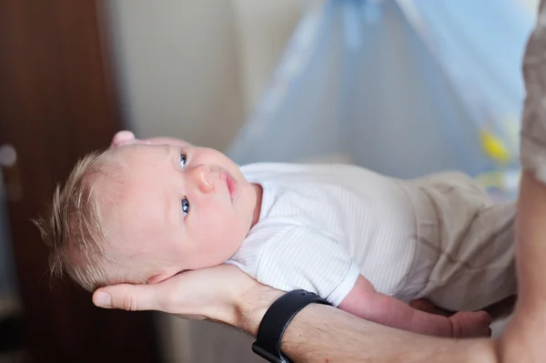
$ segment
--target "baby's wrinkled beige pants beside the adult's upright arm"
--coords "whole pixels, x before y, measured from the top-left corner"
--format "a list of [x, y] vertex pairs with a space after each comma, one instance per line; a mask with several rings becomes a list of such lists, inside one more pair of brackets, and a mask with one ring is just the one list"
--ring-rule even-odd
[[440, 308], [476, 310], [516, 293], [513, 202], [493, 203], [458, 172], [411, 180], [404, 187], [418, 226], [406, 281], [419, 286], [419, 297]]

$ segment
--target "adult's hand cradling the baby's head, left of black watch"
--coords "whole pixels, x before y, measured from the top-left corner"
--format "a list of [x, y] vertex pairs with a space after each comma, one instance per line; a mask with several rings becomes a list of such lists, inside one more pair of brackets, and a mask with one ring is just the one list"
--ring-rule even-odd
[[280, 291], [259, 284], [238, 267], [220, 265], [185, 271], [153, 285], [101, 287], [93, 294], [93, 302], [99, 308], [158, 310], [181, 318], [206, 318], [253, 334], [258, 327], [242, 320], [258, 314], [251, 320], [260, 321], [280, 295]]

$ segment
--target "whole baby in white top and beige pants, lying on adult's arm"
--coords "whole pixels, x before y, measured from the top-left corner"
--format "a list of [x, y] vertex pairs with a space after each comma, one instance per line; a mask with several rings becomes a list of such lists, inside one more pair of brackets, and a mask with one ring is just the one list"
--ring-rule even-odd
[[[490, 316], [475, 310], [516, 294], [514, 211], [458, 172], [239, 167], [213, 149], [123, 131], [78, 162], [38, 227], [52, 271], [89, 291], [227, 263], [379, 324], [474, 337], [490, 334]], [[420, 297], [460, 312], [411, 308]]]

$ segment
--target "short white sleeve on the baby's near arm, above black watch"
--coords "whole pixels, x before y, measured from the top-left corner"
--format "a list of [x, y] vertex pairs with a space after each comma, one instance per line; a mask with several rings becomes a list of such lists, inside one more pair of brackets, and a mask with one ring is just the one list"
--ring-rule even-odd
[[259, 282], [280, 290], [303, 288], [337, 307], [359, 277], [359, 267], [335, 238], [312, 227], [292, 227], [262, 252]]

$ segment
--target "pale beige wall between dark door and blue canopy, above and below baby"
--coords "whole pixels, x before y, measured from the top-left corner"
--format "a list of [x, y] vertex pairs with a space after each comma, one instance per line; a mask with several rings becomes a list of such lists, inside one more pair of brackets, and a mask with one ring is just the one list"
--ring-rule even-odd
[[[224, 149], [267, 86], [306, 2], [106, 1], [131, 129]], [[168, 362], [263, 361], [249, 338], [226, 328], [167, 315], [158, 321]]]

